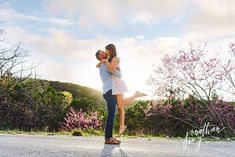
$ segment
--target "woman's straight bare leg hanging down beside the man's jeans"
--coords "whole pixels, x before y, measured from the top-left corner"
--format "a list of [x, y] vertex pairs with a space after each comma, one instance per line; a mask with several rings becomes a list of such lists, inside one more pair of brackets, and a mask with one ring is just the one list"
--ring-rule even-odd
[[117, 94], [117, 107], [118, 107], [118, 112], [119, 112], [119, 124], [120, 124], [120, 129], [122, 130], [125, 128], [125, 111], [123, 107], [123, 94]]

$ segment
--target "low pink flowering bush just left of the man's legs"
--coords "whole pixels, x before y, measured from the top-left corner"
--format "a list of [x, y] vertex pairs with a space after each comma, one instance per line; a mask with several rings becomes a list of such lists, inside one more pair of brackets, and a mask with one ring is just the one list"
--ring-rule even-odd
[[97, 112], [82, 112], [74, 110], [72, 107], [69, 109], [64, 121], [60, 123], [61, 130], [71, 131], [77, 129], [98, 129], [101, 127], [101, 118]]

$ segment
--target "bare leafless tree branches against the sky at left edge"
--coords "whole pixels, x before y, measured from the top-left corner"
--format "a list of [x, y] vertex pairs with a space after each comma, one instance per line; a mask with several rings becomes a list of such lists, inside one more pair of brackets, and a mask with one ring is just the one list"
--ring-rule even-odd
[[[4, 29], [0, 29], [0, 37]], [[4, 100], [7, 91], [12, 90], [17, 83], [32, 76], [33, 66], [26, 67], [27, 52], [21, 48], [21, 43], [13, 47], [4, 39], [0, 40], [0, 100]]]

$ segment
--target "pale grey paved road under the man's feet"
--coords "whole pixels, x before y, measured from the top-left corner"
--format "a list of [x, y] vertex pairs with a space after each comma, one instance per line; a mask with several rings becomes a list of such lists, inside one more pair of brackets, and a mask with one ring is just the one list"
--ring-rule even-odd
[[[120, 146], [105, 145], [103, 137], [0, 134], [0, 157], [234, 157], [235, 141], [122, 138]], [[200, 147], [198, 147], [200, 146]], [[198, 149], [198, 150], [197, 150]]]

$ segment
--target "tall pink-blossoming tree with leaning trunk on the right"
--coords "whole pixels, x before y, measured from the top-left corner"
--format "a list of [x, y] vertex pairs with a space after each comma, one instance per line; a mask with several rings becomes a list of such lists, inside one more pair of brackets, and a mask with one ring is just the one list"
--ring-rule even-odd
[[[219, 119], [220, 126], [226, 126], [231, 132], [234, 132], [214, 106], [216, 101], [214, 98], [218, 98], [218, 91], [221, 89], [224, 79], [232, 78], [232, 75], [228, 74], [234, 72], [231, 64], [222, 65], [222, 60], [218, 56], [206, 56], [205, 46], [194, 48], [190, 45], [189, 50], [165, 55], [162, 64], [154, 68], [149, 84], [156, 88], [156, 94], [161, 97], [164, 97], [169, 91], [177, 91], [173, 93], [178, 98], [184, 98], [185, 94], [196, 97], [203, 102], [197, 105], [206, 106], [210, 114]], [[227, 71], [229, 73], [226, 73]]]

